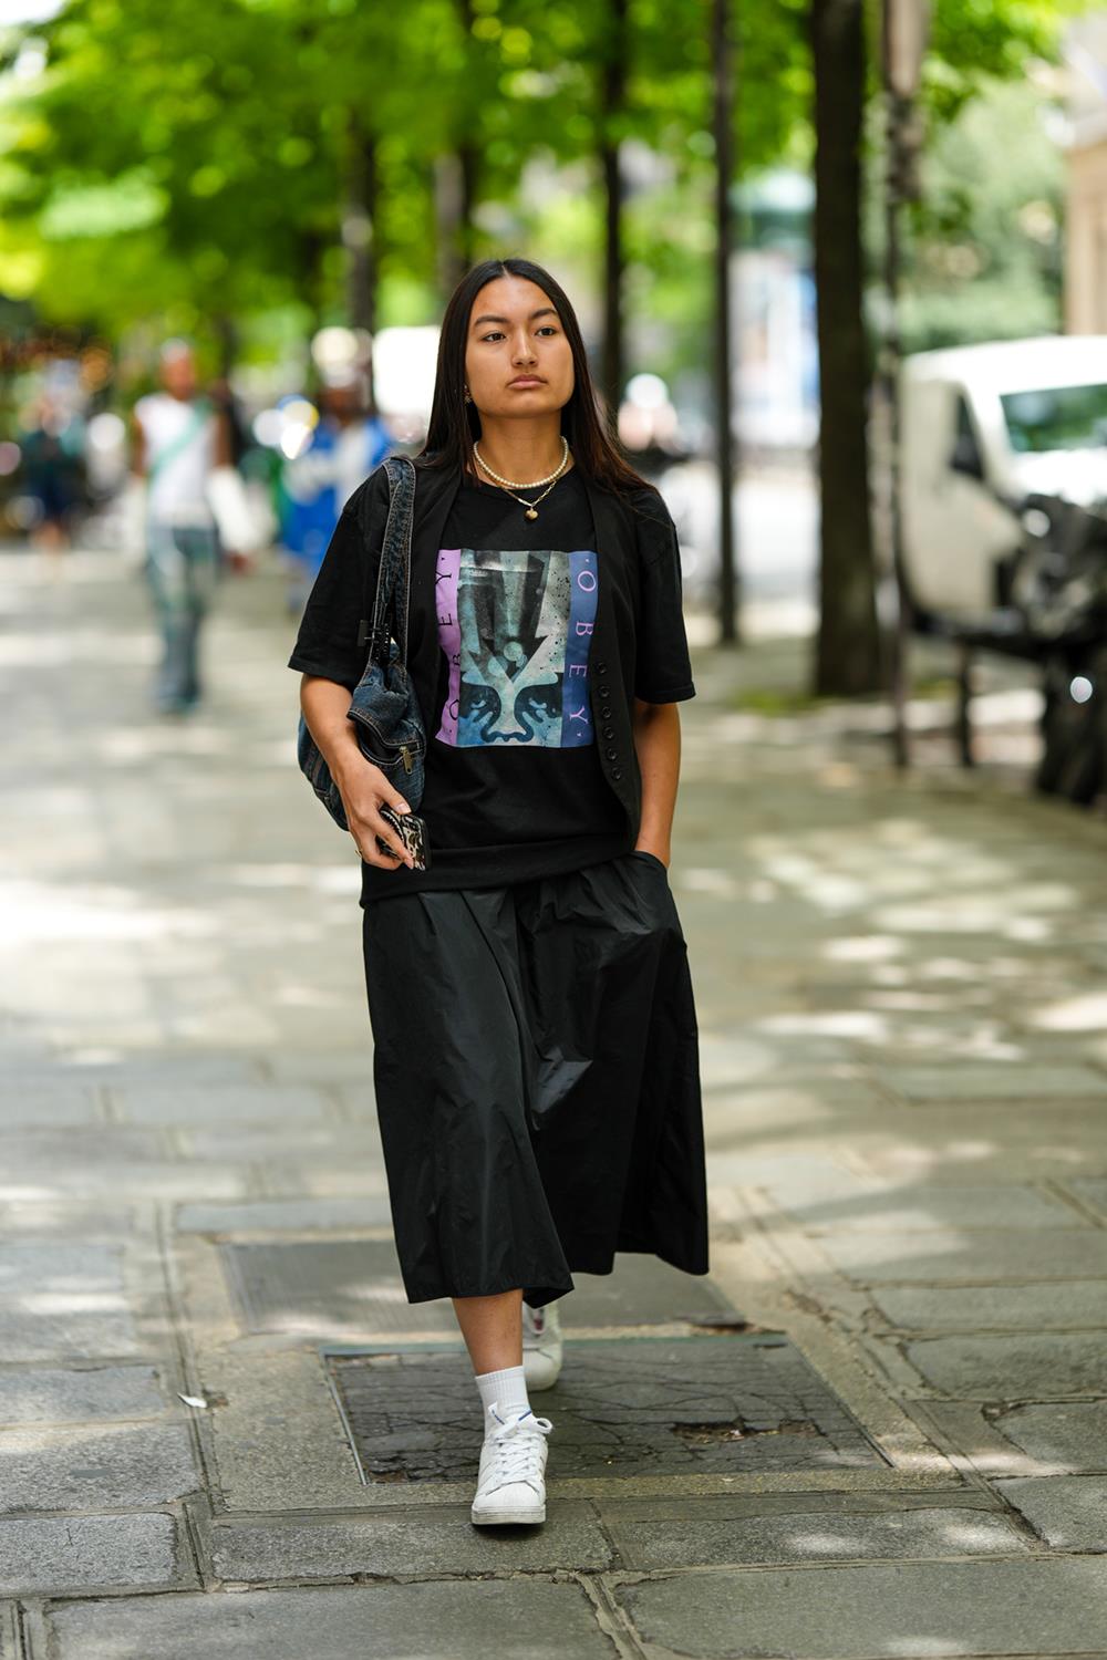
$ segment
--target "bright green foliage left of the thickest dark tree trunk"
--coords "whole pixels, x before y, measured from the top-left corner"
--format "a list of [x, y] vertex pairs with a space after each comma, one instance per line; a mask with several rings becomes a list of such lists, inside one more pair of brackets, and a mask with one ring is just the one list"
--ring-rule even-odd
[[[579, 164], [574, 229], [596, 244], [607, 22], [594, 0], [70, 0], [25, 32], [46, 45], [45, 75], [8, 76], [0, 103], [0, 286], [30, 287], [45, 314], [106, 334], [212, 302], [237, 315], [287, 304], [337, 315], [358, 138], [377, 163], [378, 279], [415, 307], [441, 287], [435, 169], [461, 149], [475, 171], [473, 257], [549, 241], [548, 203], [521, 189], [543, 156]], [[662, 310], [687, 314], [710, 237], [704, 5], [632, 0], [627, 22], [626, 98], [607, 136], [666, 163], [649, 211], [627, 189], [632, 277], [641, 299], [657, 284]], [[802, 126], [800, 22], [800, 0], [744, 15], [744, 168], [787, 151]], [[10, 30], [8, 61], [18, 45]]]

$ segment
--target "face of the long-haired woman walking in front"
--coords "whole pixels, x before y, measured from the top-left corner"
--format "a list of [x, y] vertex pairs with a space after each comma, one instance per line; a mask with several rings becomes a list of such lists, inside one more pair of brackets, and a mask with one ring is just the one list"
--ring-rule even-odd
[[[529, 385], [513, 385], [521, 377]], [[481, 415], [544, 415], [573, 397], [573, 350], [553, 300], [528, 277], [495, 277], [473, 300], [465, 383]]]

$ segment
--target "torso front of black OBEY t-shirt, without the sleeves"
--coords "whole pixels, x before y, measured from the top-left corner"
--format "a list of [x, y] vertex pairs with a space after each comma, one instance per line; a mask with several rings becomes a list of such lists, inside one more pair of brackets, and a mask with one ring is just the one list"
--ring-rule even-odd
[[576, 470], [536, 520], [463, 478], [435, 563], [438, 684], [418, 812], [432, 867], [363, 896], [521, 881], [634, 845], [596, 752], [589, 644], [602, 571]]

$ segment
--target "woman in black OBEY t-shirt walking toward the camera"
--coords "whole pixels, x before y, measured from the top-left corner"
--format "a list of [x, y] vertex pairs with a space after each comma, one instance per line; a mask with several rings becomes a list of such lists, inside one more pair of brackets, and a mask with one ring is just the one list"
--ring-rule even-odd
[[[388, 513], [347, 503], [289, 667], [362, 855], [373, 1082], [408, 1301], [453, 1298], [485, 1441], [471, 1519], [541, 1522], [573, 1270], [707, 1273], [697, 1023], [669, 886], [680, 551], [597, 417], [576, 315], [486, 261], [441, 325], [417, 466], [408, 671], [430, 868], [345, 719]], [[390, 847], [385, 855], [377, 837]]]

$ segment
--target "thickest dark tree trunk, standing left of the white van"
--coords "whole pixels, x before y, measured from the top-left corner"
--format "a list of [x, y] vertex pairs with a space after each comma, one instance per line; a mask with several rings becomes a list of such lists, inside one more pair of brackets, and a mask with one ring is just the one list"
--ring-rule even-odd
[[861, 317], [863, 0], [812, 0], [815, 284], [822, 418], [815, 691], [881, 686], [868, 488], [870, 364]]

